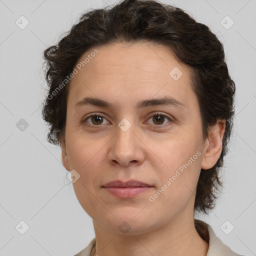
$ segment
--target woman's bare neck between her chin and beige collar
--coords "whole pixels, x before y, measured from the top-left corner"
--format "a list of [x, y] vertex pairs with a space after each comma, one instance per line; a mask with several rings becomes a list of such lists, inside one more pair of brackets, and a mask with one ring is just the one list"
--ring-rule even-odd
[[202, 222], [196, 220], [194, 223], [193, 216], [189, 219], [180, 216], [156, 229], [134, 234], [111, 233], [95, 220], [93, 225], [96, 237], [94, 253], [98, 255], [206, 256], [208, 250], [208, 232]]

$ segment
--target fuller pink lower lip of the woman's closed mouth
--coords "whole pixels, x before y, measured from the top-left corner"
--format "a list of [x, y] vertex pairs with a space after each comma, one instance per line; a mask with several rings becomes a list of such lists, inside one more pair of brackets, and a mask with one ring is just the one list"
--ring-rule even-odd
[[111, 194], [120, 198], [134, 197], [140, 193], [149, 190], [149, 186], [138, 186], [138, 187], [105, 187], [105, 189]]

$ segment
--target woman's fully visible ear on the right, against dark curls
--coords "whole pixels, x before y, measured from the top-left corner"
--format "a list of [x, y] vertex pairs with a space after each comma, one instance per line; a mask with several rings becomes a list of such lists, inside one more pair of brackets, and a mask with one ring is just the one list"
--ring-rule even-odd
[[222, 138], [225, 131], [225, 120], [218, 119], [209, 129], [208, 136], [204, 142], [202, 169], [209, 169], [217, 162], [222, 151]]

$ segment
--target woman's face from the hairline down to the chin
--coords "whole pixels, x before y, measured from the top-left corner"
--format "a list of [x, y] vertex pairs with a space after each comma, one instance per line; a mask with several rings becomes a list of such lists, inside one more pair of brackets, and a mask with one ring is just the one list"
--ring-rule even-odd
[[[80, 175], [73, 187], [81, 206], [98, 226], [116, 233], [143, 233], [190, 217], [200, 170], [218, 158], [204, 159], [191, 70], [165, 46], [149, 42], [97, 50], [86, 51], [76, 64], [62, 143], [65, 168]], [[85, 97], [110, 106], [76, 104]], [[137, 107], [164, 97], [175, 101]], [[103, 187], [131, 179], [150, 187]]]

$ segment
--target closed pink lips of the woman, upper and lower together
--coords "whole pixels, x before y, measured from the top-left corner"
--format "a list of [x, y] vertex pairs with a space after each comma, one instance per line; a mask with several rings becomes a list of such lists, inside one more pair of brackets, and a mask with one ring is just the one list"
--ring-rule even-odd
[[138, 180], [113, 180], [102, 187], [116, 197], [131, 198], [150, 190], [153, 186]]

